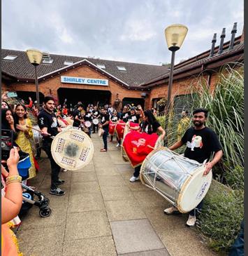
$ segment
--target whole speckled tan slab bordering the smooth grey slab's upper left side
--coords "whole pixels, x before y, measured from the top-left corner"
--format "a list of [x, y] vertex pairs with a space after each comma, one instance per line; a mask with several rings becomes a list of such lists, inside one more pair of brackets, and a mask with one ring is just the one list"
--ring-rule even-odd
[[108, 217], [103, 211], [68, 213], [65, 241], [111, 236]]

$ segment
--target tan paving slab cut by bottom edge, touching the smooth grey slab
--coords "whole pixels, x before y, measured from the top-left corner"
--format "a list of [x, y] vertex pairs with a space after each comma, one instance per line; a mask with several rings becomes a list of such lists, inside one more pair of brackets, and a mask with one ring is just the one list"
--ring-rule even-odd
[[65, 241], [62, 256], [115, 256], [112, 236]]

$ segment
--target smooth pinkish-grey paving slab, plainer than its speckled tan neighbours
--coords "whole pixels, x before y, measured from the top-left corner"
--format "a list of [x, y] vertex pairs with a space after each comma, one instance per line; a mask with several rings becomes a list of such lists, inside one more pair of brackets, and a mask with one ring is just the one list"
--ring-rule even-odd
[[148, 220], [110, 222], [118, 254], [164, 249]]

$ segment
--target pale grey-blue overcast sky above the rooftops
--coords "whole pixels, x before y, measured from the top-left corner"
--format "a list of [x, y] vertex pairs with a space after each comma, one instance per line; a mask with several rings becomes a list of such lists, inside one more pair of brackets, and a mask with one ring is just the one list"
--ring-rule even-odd
[[238, 22], [241, 0], [3, 0], [2, 48], [161, 65], [170, 62], [164, 29], [173, 23], [189, 32], [176, 62], [217, 45]]

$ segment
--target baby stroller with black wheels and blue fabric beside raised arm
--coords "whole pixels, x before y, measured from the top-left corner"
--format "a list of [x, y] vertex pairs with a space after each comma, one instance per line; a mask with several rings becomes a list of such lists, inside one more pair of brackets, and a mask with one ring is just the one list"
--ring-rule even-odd
[[[31, 166], [29, 154], [22, 151], [22, 154], [20, 154], [20, 159], [21, 160], [17, 164], [17, 169], [19, 175], [22, 177], [22, 180], [26, 180], [29, 177], [29, 168]], [[27, 213], [27, 210], [34, 205], [40, 209], [39, 215], [41, 217], [49, 217], [52, 213], [52, 210], [48, 207], [50, 202], [49, 198], [45, 197], [45, 195], [41, 192], [31, 189], [25, 184], [22, 184], [22, 188], [26, 191], [22, 193], [23, 201], [19, 215], [24, 215], [24, 213]], [[34, 200], [34, 196], [38, 197], [37, 201]]]

